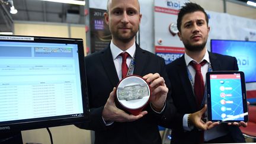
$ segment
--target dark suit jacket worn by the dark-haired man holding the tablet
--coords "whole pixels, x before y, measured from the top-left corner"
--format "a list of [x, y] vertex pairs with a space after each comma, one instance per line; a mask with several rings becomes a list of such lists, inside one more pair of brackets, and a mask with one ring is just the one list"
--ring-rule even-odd
[[[238, 71], [238, 65], [235, 57], [223, 56], [216, 53], [210, 53], [210, 62], [213, 71]], [[163, 126], [171, 127], [171, 123], [175, 123], [172, 127], [171, 143], [198, 143], [199, 133], [196, 128], [191, 132], [184, 132], [183, 116], [184, 114], [194, 113], [198, 111], [196, 98], [193, 94], [191, 82], [187, 74], [187, 66], [185, 64], [184, 55], [174, 62], [167, 65], [167, 73], [171, 81], [171, 97], [177, 108], [175, 119], [169, 117], [169, 114], [163, 116]], [[229, 135], [233, 137], [235, 142], [244, 142], [241, 130], [236, 126], [224, 126], [229, 130]]]

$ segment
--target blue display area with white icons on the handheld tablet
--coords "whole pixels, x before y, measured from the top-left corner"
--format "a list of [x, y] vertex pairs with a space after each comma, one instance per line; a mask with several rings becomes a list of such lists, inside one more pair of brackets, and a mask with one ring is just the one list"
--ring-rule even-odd
[[[223, 120], [244, 113], [241, 79], [210, 79], [212, 120]], [[244, 120], [239, 117], [233, 120]]]

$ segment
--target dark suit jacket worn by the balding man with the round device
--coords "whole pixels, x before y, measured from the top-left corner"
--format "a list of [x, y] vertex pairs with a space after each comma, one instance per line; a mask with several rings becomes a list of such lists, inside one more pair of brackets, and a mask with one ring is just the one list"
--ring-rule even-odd
[[[169, 83], [164, 59], [140, 49], [136, 45], [134, 75], [144, 76], [158, 72]], [[103, 107], [119, 78], [114, 66], [110, 47], [85, 57], [89, 94], [90, 121], [78, 127], [94, 130], [95, 143], [161, 143], [158, 130], [160, 114], [153, 113], [150, 105], [145, 108], [146, 116], [133, 122], [114, 122], [105, 126], [102, 119]], [[169, 107], [166, 105], [165, 108]], [[168, 108], [171, 109], [171, 108]]]

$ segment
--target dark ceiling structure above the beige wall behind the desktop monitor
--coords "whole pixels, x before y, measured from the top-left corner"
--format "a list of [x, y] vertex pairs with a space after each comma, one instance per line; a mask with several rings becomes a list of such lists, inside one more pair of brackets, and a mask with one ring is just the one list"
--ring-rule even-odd
[[8, 0], [0, 0], [0, 32], [12, 31], [13, 21], [85, 24], [83, 5], [39, 0], [12, 0], [17, 14], [10, 14]]

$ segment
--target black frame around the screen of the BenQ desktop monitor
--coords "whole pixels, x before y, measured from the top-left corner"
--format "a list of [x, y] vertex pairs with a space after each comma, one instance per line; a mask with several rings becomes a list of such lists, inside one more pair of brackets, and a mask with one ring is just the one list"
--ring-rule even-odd
[[[14, 120], [0, 122], [0, 133], [12, 132], [19, 130], [40, 129], [45, 127], [65, 126], [69, 124], [81, 123], [89, 119], [89, 100], [87, 91], [87, 79], [85, 71], [84, 60], [84, 43], [82, 39], [76, 38], [63, 38], [63, 37], [43, 37], [43, 36], [17, 36], [17, 35], [0, 35], [0, 37], [31, 37], [34, 40], [3, 40], [0, 41], [17, 41], [17, 42], [30, 42], [30, 43], [66, 43], [66, 44], [78, 44], [78, 59], [79, 59], [79, 72], [81, 80], [81, 92], [82, 92], [82, 107], [84, 113], [79, 117], [43, 117], [36, 119]], [[69, 116], [69, 115], [67, 115]]]

